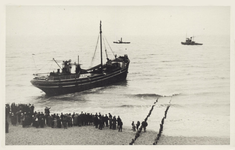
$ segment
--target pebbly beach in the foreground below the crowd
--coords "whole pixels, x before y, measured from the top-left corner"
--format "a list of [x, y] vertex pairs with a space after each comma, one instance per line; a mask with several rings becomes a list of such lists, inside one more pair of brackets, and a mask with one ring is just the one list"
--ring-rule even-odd
[[[129, 145], [135, 137], [130, 128], [118, 130], [96, 129], [93, 126], [63, 128], [9, 127], [5, 145]], [[141, 133], [134, 145], [153, 145], [157, 132]], [[157, 145], [229, 145], [229, 138], [161, 136]]]

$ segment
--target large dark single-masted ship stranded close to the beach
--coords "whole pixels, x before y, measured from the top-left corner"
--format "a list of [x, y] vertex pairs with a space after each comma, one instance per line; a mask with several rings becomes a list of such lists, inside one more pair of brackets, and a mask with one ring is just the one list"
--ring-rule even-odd
[[[74, 64], [71, 63], [71, 60], [66, 60], [63, 61], [63, 67], [61, 68], [53, 58], [60, 69], [57, 69], [57, 72], [51, 72], [43, 76], [34, 74], [35, 77], [31, 80], [32, 85], [44, 91], [46, 95], [53, 96], [80, 92], [125, 81], [130, 63], [126, 54], [119, 57], [115, 55], [115, 58], [112, 60], [107, 58], [107, 62], [103, 64], [101, 21], [99, 38], [101, 53], [100, 64], [89, 69], [82, 69], [79, 60], [78, 63]], [[74, 73], [71, 72], [72, 65], [76, 67]]]

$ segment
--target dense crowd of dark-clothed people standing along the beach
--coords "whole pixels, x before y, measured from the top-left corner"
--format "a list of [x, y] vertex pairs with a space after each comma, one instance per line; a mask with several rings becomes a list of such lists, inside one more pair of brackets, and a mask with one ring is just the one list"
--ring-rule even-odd
[[36, 128], [64, 128], [72, 126], [94, 125], [95, 128], [102, 130], [104, 127], [122, 132], [123, 122], [118, 116], [112, 116], [110, 113], [103, 115], [101, 113], [50, 113], [50, 108], [46, 107], [44, 112], [34, 111], [34, 105], [31, 104], [6, 104], [6, 133], [9, 132], [9, 122], [13, 126], [22, 125], [23, 128], [33, 126]]

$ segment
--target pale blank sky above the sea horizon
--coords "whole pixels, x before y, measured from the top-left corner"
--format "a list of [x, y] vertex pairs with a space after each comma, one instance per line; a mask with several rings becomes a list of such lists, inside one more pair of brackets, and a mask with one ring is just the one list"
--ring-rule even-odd
[[6, 36], [229, 35], [229, 6], [6, 7]]

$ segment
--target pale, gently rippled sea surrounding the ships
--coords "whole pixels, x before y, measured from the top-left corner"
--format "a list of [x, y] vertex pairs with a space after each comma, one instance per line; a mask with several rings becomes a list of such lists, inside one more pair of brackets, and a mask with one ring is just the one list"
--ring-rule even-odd
[[185, 35], [122, 37], [130, 44], [114, 44], [120, 37], [103, 37], [103, 62], [106, 56], [128, 55], [126, 81], [52, 97], [31, 84], [33, 74], [56, 71], [63, 60], [79, 62], [83, 69], [99, 64], [98, 33], [6, 37], [5, 103], [34, 104], [40, 112], [50, 107], [59, 114], [111, 113], [132, 132], [132, 121], [142, 122], [156, 102], [147, 131], [159, 131], [170, 106], [162, 134], [230, 137], [229, 35], [198, 36], [194, 40], [203, 45], [197, 46], [181, 45]]

